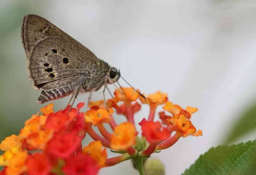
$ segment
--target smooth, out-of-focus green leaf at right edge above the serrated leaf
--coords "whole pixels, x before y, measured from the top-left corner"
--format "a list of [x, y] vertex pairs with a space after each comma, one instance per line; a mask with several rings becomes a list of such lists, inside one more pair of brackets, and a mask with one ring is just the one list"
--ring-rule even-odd
[[230, 134], [225, 140], [225, 145], [235, 141], [238, 137], [249, 133], [256, 129], [256, 102], [251, 103], [251, 105], [246, 109], [241, 118], [238, 119], [235, 125], [231, 128]]

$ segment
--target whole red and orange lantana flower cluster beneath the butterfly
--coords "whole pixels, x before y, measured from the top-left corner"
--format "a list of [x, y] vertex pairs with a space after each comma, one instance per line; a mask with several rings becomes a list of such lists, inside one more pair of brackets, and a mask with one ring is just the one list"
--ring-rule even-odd
[[[140, 111], [141, 104], [149, 105], [150, 111], [138, 130], [134, 114]], [[0, 175], [94, 175], [103, 167], [129, 159], [143, 174], [142, 162], [154, 152], [171, 147], [181, 137], [202, 135], [190, 121], [197, 108], [182, 109], [169, 102], [166, 93], [157, 91], [145, 99], [132, 88], [123, 87], [115, 90], [106, 105], [108, 109], [103, 100], [89, 102], [86, 112], [80, 111], [84, 103], [58, 112], [53, 111], [53, 104], [43, 107], [41, 114], [38, 112], [25, 122], [19, 135], [1, 142], [4, 154], [0, 156], [0, 166], [4, 170]], [[154, 121], [158, 106], [164, 110], [159, 112], [161, 122]], [[123, 115], [127, 121], [117, 124], [114, 113]], [[107, 125], [111, 131], [106, 129]], [[95, 141], [82, 146], [88, 135]], [[106, 148], [121, 155], [108, 158]]]

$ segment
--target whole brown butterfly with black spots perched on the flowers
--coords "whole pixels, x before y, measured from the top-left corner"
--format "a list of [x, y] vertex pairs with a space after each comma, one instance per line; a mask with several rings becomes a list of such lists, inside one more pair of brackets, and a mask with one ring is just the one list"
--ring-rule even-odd
[[39, 103], [72, 94], [69, 103], [73, 98], [73, 106], [79, 93], [97, 91], [103, 85], [105, 102], [107, 84], [121, 77], [119, 70], [38, 15], [23, 18], [21, 39], [29, 78], [35, 89], [42, 90]]

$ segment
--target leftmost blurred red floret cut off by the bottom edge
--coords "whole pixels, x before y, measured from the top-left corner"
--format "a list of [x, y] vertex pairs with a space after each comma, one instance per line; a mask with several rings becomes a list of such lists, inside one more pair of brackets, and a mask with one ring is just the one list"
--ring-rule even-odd
[[51, 169], [50, 160], [43, 153], [28, 155], [26, 166], [29, 175], [47, 175]]

